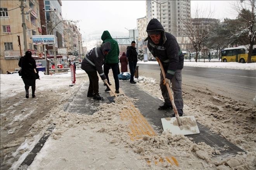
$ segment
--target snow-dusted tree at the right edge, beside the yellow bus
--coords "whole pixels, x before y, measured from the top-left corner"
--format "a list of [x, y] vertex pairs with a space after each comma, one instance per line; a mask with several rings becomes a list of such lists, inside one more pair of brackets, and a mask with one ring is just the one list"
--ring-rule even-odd
[[[251, 63], [251, 56], [253, 53], [253, 45], [256, 39], [256, 0], [241, 0], [237, 1], [235, 9], [239, 13], [238, 21], [238, 36], [247, 36], [248, 46], [248, 59], [247, 63]], [[242, 42], [243, 43], [243, 42]], [[244, 42], [244, 45], [247, 43]]]

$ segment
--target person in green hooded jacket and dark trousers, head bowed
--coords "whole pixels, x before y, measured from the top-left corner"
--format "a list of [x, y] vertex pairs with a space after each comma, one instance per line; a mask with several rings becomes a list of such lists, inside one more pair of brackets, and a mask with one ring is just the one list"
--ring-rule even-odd
[[[103, 66], [104, 69], [104, 74], [106, 75], [107, 82], [109, 83], [109, 69], [112, 69], [113, 72], [113, 77], [115, 80], [115, 87], [116, 87], [116, 93], [119, 93], [119, 79], [118, 79], [118, 70], [119, 70], [119, 61], [118, 61], [118, 56], [119, 56], [119, 47], [118, 47], [118, 42], [114, 39], [112, 39], [109, 31], [104, 31], [102, 36], [102, 43], [110, 42], [111, 43], [111, 50], [106, 56], [106, 60]], [[106, 90], [110, 91], [110, 88], [107, 87]]]

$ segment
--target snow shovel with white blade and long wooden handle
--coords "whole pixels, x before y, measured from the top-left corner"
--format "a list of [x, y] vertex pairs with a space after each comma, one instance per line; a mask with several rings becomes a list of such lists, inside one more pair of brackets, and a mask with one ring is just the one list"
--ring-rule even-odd
[[[165, 79], [165, 72], [164, 72], [163, 65], [159, 60], [159, 58], [156, 58], [156, 61], [159, 63], [163, 77]], [[167, 82], [165, 83], [165, 85], [169, 93], [169, 97], [171, 100], [171, 105], [173, 106], [175, 117], [167, 117], [167, 118], [161, 119], [164, 131], [170, 131], [172, 135], [175, 135], [175, 134], [186, 135], [186, 134], [200, 133], [194, 116], [183, 116], [183, 117], [179, 116], [176, 105], [174, 103], [173, 95], [171, 94], [170, 85]]]

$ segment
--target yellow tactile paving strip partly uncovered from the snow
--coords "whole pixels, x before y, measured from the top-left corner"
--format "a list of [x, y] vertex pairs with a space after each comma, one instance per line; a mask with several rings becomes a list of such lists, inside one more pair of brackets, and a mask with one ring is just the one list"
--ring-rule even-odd
[[[118, 95], [122, 94], [123, 91], [119, 89], [120, 93]], [[114, 94], [110, 91], [110, 95], [113, 96]], [[149, 124], [149, 122], [145, 119], [145, 117], [140, 113], [140, 111], [133, 105], [133, 103], [130, 102], [129, 108], [123, 108], [122, 111], [119, 112], [121, 116], [122, 121], [128, 121], [130, 122], [129, 127], [131, 131], [128, 133], [131, 140], [134, 141], [135, 139], [141, 139], [142, 136], [148, 135], [148, 136], [157, 136], [157, 133], [154, 131], [152, 126]], [[155, 165], [157, 163], [163, 163], [164, 159], [169, 162], [171, 165], [179, 166], [178, 161], [175, 157], [169, 156], [165, 158], [160, 158], [159, 160], [155, 160]], [[148, 164], [151, 163], [151, 161], [147, 161]]]

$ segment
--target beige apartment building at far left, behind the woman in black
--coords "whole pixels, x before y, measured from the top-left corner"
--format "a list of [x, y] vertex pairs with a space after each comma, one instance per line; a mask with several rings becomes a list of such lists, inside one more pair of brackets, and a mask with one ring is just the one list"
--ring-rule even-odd
[[[29, 51], [35, 56], [43, 53], [42, 45], [33, 45], [32, 35], [41, 35], [42, 29], [38, 0], [24, 0], [26, 40]], [[17, 0], [0, 1], [0, 71], [15, 71], [19, 68], [19, 57], [25, 54], [22, 29], [21, 2]], [[21, 54], [18, 37], [21, 42]]]

